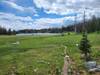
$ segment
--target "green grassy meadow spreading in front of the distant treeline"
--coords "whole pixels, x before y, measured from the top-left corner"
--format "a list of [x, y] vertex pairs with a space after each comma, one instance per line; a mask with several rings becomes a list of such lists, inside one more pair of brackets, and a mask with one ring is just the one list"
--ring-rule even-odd
[[[100, 35], [89, 34], [92, 45], [92, 56], [100, 59]], [[0, 75], [6, 75], [13, 65], [20, 75], [33, 75], [37, 69], [38, 75], [48, 75], [50, 66], [55, 64], [60, 70], [63, 67], [64, 47], [77, 65], [83, 62], [80, 51], [75, 44], [79, 43], [81, 35], [65, 36], [0, 36]], [[11, 43], [20, 41], [15, 46]], [[97, 60], [97, 62], [100, 62]], [[36, 75], [34, 73], [34, 75]]]

